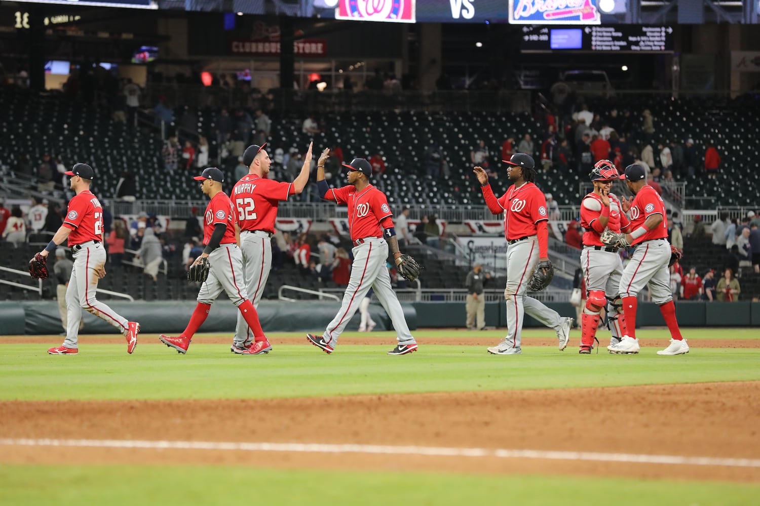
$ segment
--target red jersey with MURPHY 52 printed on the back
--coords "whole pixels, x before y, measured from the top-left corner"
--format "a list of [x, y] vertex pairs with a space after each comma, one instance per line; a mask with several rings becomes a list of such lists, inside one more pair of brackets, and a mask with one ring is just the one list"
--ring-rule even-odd
[[274, 234], [280, 200], [295, 193], [292, 183], [280, 183], [256, 175], [244, 176], [233, 187], [231, 200], [237, 209], [240, 230], [263, 230]]

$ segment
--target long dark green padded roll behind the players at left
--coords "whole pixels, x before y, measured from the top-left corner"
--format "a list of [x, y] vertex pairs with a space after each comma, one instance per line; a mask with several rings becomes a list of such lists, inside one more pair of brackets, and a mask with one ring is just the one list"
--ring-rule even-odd
[[[126, 319], [140, 322], [141, 332], [150, 334], [177, 335], [188, 324], [195, 301], [160, 300], [160, 301], [112, 301], [108, 305]], [[417, 327], [414, 306], [402, 303], [404, 316], [409, 328]], [[328, 323], [340, 310], [340, 302], [285, 302], [279, 300], [262, 300], [258, 305], [261, 325], [266, 332], [317, 332], [325, 331]], [[230, 339], [235, 332], [237, 308], [228, 300], [220, 300], [211, 306], [211, 312], [201, 327], [200, 332], [229, 333]], [[375, 330], [392, 330], [391, 319], [378, 303], [369, 305], [369, 314], [375, 320]], [[117, 330], [103, 319], [82, 311], [84, 328], [82, 334], [111, 334]], [[347, 331], [359, 328], [360, 316], [357, 311], [346, 326]], [[0, 335], [50, 335], [63, 332], [58, 313], [58, 304], [54, 301], [4, 301], [0, 302]]]

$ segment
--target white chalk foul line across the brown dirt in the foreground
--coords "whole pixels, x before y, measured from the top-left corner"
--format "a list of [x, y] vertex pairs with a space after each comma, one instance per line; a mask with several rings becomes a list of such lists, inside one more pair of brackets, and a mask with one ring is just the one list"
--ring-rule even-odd
[[429, 457], [498, 457], [548, 460], [588, 460], [628, 464], [681, 466], [760, 467], [760, 459], [686, 457], [682, 455], [610, 454], [594, 451], [508, 450], [445, 448], [435, 446], [331, 445], [322, 443], [244, 443], [213, 441], [139, 441], [125, 439], [25, 439], [0, 438], [8, 446], [65, 446], [87, 448], [144, 448], [151, 450], [290, 451], [327, 454], [424, 455]]

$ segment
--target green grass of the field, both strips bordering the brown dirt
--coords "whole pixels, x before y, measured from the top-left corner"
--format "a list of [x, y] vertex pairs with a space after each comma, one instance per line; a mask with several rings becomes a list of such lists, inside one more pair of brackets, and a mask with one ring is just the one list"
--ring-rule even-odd
[[[286, 398], [760, 380], [760, 349], [698, 347], [703, 338], [758, 338], [756, 329], [689, 329], [685, 335], [694, 347], [680, 357], [657, 356], [667, 344], [663, 330], [640, 331], [638, 337], [660, 338], [662, 345], [643, 348], [637, 356], [606, 354], [608, 334], [600, 332], [600, 353], [582, 357], [577, 331], [563, 352], [526, 341], [524, 354], [515, 357], [489, 355], [483, 346], [454, 345], [425, 345], [416, 354], [390, 357], [385, 351], [393, 335], [375, 334], [387, 336], [388, 344], [339, 344], [331, 356], [306, 342], [277, 345], [274, 335], [273, 352], [259, 357], [231, 354], [228, 345], [204, 344], [202, 336], [185, 356], [154, 335], [141, 335], [132, 356], [122, 344], [83, 344], [78, 356], [51, 357], [44, 344], [3, 344], [0, 338], [0, 400]], [[493, 338], [496, 344], [503, 332], [415, 335]], [[526, 332], [531, 335], [552, 334]], [[52, 336], [50, 345], [59, 341]], [[257, 388], [236, 386], [252, 384]], [[2, 451], [13, 447], [0, 446]], [[0, 464], [0, 504], [758, 504], [760, 486], [684, 478]]]

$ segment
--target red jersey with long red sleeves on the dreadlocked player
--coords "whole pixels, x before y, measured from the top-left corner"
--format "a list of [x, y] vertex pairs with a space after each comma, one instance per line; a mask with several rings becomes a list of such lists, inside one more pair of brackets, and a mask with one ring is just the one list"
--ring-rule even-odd
[[[496, 196], [490, 186], [483, 188], [483, 196], [493, 212], [494, 207], [489, 200], [496, 199]], [[525, 183], [519, 188], [513, 184], [504, 195], [496, 199], [496, 205], [504, 209], [504, 237], [507, 240], [536, 235], [537, 223], [549, 221], [546, 197], [533, 183]]]

